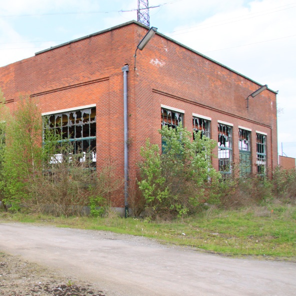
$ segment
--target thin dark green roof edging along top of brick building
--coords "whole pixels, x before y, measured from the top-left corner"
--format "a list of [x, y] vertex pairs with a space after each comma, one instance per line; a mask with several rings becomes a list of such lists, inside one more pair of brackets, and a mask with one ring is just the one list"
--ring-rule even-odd
[[[131, 24], [136, 24], [136, 25], [138, 25], [140, 27], [143, 27], [143, 28], [146, 28], [147, 30], [149, 30], [149, 27], [147, 27], [147, 26], [145, 26], [145, 25], [143, 25], [143, 24], [141, 24], [139, 22], [136, 22], [135, 20], [132, 20], [132, 21], [117, 25], [115, 27], [111, 27], [109, 29], [105, 29], [103, 31], [99, 31], [99, 32], [96, 32], [96, 33], [93, 33], [93, 34], [90, 34], [90, 35], [87, 35], [87, 36], [84, 36], [84, 37], [81, 37], [81, 38], [77, 38], [77, 39], [74, 39], [74, 40], [71, 40], [71, 41], [68, 41], [68, 42], [53, 46], [51, 48], [42, 50], [40, 52], [35, 53], [35, 56], [46, 53], [48, 51], [52, 51], [52, 50], [54, 50], [56, 48], [59, 48], [59, 47], [69, 45], [71, 43], [75, 43], [75, 42], [78, 42], [78, 41], [81, 41], [81, 40], [84, 40], [84, 39], [87, 39], [87, 38], [90, 38], [90, 37], [93, 37], [93, 36], [96, 36], [96, 35], [100, 35], [100, 34], [103, 34], [103, 33], [106, 33], [106, 32], [110, 32], [110, 31], [113, 31], [113, 30], [116, 30], [118, 28], [122, 28], [122, 27], [125, 27], [125, 26], [128, 26], [128, 25], [131, 25]], [[225, 65], [223, 65], [223, 64], [221, 64], [221, 63], [219, 63], [219, 62], [217, 62], [217, 61], [215, 61], [215, 60], [213, 60], [213, 59], [211, 59], [211, 58], [209, 58], [209, 57], [207, 57], [207, 56], [205, 56], [205, 55], [203, 55], [203, 54], [201, 54], [201, 53], [199, 53], [199, 52], [197, 52], [197, 51], [195, 51], [195, 50], [193, 50], [193, 49], [191, 49], [189, 47], [187, 47], [186, 45], [183, 45], [183, 44], [179, 43], [176, 40], [171, 39], [170, 37], [167, 37], [167, 36], [165, 36], [165, 35], [163, 35], [163, 34], [161, 34], [159, 32], [156, 32], [156, 34], [160, 35], [161, 37], [163, 37], [163, 38], [165, 38], [165, 39], [167, 39], [167, 40], [169, 40], [169, 41], [171, 41], [171, 42], [173, 42], [173, 43], [175, 43], [175, 44], [177, 44], [177, 45], [179, 45], [179, 46], [181, 46], [181, 47], [183, 47], [183, 48], [185, 48], [185, 49], [187, 49], [187, 50], [189, 50], [189, 51], [191, 51], [191, 52], [193, 52], [193, 53], [195, 53], [195, 54], [197, 54], [197, 55], [199, 55], [199, 56], [201, 56], [201, 57], [203, 57], [203, 58], [205, 58], [205, 59], [207, 59], [207, 60], [209, 60], [209, 61], [211, 61], [211, 62], [213, 62], [213, 63], [215, 63], [215, 64], [217, 64], [217, 65], [219, 65], [219, 66], [221, 66], [221, 67], [223, 67], [223, 68], [225, 68], [227, 70], [229, 70], [229, 71], [231, 71], [231, 72], [233, 72], [233, 73], [236, 73], [237, 75], [239, 75], [239, 76], [241, 76], [241, 77], [243, 77], [243, 78], [245, 78], [245, 79], [247, 79], [247, 80], [249, 80], [249, 81], [251, 81], [251, 82], [253, 82], [253, 83], [257, 84], [257, 85], [259, 85], [259, 86], [263, 86], [263, 84], [260, 84], [260, 83], [258, 83], [256, 81], [250, 79], [249, 77], [247, 77], [245, 75], [242, 75], [241, 73], [239, 73], [239, 72], [237, 72], [237, 71], [235, 71], [235, 70], [233, 70], [233, 69], [231, 69], [231, 68], [229, 68], [229, 67], [227, 67], [227, 66], [225, 66]], [[269, 88], [267, 88], [267, 89], [269, 91], [273, 92], [274, 94], [277, 94], [277, 91], [273, 91], [273, 90], [271, 90]]]

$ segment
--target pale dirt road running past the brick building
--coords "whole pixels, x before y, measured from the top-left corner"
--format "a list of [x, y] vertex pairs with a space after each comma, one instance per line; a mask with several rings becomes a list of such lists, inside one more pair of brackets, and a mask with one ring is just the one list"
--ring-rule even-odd
[[104, 231], [0, 224], [0, 250], [96, 283], [108, 296], [296, 295], [296, 264], [227, 258]]

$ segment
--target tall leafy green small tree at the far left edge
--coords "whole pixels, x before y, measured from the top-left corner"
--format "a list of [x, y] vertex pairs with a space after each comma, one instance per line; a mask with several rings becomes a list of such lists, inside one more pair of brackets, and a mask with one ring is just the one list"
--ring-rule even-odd
[[30, 197], [28, 185], [42, 168], [42, 122], [36, 104], [29, 97], [20, 98], [15, 117], [9, 112], [5, 114], [1, 188], [4, 201], [16, 210], [21, 201]]

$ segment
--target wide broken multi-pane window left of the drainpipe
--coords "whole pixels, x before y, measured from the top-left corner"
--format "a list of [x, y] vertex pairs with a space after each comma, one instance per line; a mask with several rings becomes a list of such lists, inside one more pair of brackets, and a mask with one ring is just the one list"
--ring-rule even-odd
[[[95, 167], [96, 154], [96, 108], [50, 114], [43, 117], [44, 135], [54, 135], [62, 146], [71, 144], [71, 153], [80, 155], [80, 162]], [[49, 131], [49, 133], [48, 133]], [[69, 156], [68, 156], [69, 157]], [[53, 156], [51, 162], [62, 162], [63, 153]]]

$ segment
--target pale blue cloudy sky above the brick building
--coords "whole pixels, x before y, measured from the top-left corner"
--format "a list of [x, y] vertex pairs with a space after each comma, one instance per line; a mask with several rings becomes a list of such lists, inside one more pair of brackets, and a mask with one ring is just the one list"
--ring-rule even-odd
[[[0, 67], [137, 20], [137, 4], [0, 0]], [[158, 32], [278, 90], [278, 153], [296, 158], [296, 1], [149, 0], [149, 6]]]

